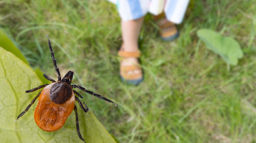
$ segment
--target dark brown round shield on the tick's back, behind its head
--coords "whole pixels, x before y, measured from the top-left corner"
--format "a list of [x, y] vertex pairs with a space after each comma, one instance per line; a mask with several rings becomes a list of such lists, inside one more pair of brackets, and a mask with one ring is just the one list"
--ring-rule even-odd
[[50, 91], [50, 98], [56, 104], [64, 104], [72, 95], [72, 87], [66, 82], [57, 82]]

